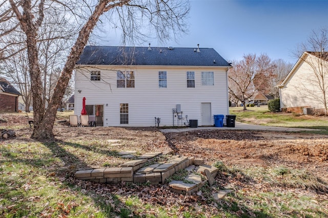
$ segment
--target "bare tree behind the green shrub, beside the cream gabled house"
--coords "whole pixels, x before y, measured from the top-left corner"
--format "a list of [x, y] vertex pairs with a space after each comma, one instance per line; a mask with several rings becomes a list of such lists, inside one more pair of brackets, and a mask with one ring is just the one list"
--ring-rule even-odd
[[275, 99], [278, 99], [279, 96], [279, 85], [284, 78], [289, 74], [291, 69], [293, 68], [292, 63], [286, 63], [282, 59], [274, 60], [273, 63], [277, 66], [276, 69], [273, 71], [273, 77], [268, 80], [268, 88], [269, 88], [269, 95], [272, 95]]

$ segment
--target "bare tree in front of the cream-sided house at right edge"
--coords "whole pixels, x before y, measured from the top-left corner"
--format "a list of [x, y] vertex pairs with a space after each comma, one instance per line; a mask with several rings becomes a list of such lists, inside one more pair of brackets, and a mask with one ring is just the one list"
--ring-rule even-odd
[[310, 98], [319, 102], [322, 105], [324, 114], [327, 115], [327, 100], [328, 100], [328, 29], [321, 28], [313, 30], [312, 35], [305, 42], [301, 43], [294, 56], [304, 61], [311, 67], [311, 83], [315, 84], [320, 91], [314, 91], [307, 86], [296, 87], [298, 92], [306, 95], [305, 98]]

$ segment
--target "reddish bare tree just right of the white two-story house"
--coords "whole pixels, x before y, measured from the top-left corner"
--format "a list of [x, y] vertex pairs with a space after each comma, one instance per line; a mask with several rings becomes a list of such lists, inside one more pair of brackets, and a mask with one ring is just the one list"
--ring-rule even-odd
[[243, 104], [243, 110], [246, 110], [246, 100], [261, 90], [265, 78], [271, 76], [274, 69], [267, 55], [244, 55], [241, 61], [233, 62], [233, 68], [228, 71], [229, 93]]

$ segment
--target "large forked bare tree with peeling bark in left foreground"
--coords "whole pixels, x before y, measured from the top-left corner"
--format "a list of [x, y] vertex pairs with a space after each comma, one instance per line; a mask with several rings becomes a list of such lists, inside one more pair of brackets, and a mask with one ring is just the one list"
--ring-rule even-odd
[[[8, 6], [9, 3], [9, 6]], [[170, 33], [185, 31], [186, 26], [184, 19], [189, 12], [189, 2], [183, 0], [100, 0], [95, 5], [87, 4], [86, 1], [18, 1], [7, 0], [0, 4], [0, 21], [4, 33], [0, 35], [8, 35], [15, 31], [21, 30], [26, 35], [26, 41], [19, 42], [25, 44], [28, 51], [29, 73], [31, 79], [32, 96], [33, 96], [33, 112], [34, 112], [34, 129], [32, 138], [34, 139], [53, 139], [53, 124], [57, 112], [57, 108], [61, 103], [61, 99], [65, 93], [66, 87], [72, 76], [75, 63], [79, 59], [85, 45], [88, 42], [91, 32], [96, 26], [100, 16], [105, 12], [108, 13], [109, 19], [114, 19], [114, 11], [123, 30], [123, 38], [144, 37], [141, 30], [147, 27], [153, 29], [160, 39], [165, 40], [170, 37]], [[76, 7], [78, 5], [79, 7]], [[78, 8], [86, 9], [84, 14], [89, 14], [88, 19], [80, 17]], [[38, 56], [37, 33], [43, 25], [45, 19], [45, 11], [49, 9], [63, 10], [65, 17], [72, 15], [72, 19], [79, 17], [78, 22], [85, 21], [83, 27], [79, 29], [79, 34], [74, 45], [67, 56], [65, 65], [61, 70], [60, 77], [51, 95], [47, 110], [43, 107], [43, 84], [42, 70], [40, 69]], [[89, 13], [88, 11], [89, 10]], [[115, 23], [115, 22], [114, 22]], [[60, 23], [58, 23], [60, 25]], [[152, 28], [150, 28], [152, 27]], [[6, 54], [7, 47], [14, 44], [10, 41], [0, 47], [1, 58], [5, 59], [15, 54]]]

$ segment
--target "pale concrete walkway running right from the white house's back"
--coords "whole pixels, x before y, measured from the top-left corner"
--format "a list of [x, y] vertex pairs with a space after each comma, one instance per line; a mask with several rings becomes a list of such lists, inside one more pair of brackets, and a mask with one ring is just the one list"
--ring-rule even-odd
[[321, 131], [318, 129], [303, 129], [303, 128], [289, 128], [289, 127], [269, 127], [260, 126], [252, 124], [244, 124], [240, 122], [235, 123], [235, 128], [233, 127], [197, 127], [197, 128], [181, 128], [181, 129], [161, 129], [163, 133], [168, 132], [186, 132], [193, 130], [270, 130], [270, 131], [282, 131], [282, 132], [298, 132], [298, 131]]

